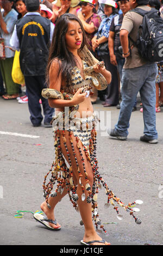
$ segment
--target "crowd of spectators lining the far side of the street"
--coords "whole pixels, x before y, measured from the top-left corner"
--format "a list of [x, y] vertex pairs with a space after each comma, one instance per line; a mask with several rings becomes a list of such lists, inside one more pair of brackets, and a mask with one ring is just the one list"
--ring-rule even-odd
[[[17, 84], [12, 80], [15, 51], [10, 45], [17, 20], [27, 14], [26, 0], [0, 0], [0, 7], [0, 37], [5, 44], [5, 59], [0, 59], [0, 95], [4, 100], [17, 99], [19, 103], [27, 103], [28, 95], [21, 96], [22, 87], [26, 84]], [[89, 50], [97, 59], [104, 61], [106, 69], [112, 74], [108, 88], [103, 92], [93, 89], [91, 96], [92, 103], [96, 103], [99, 97], [104, 107], [120, 108], [122, 68], [125, 62], [120, 47], [120, 28], [123, 16], [129, 9], [128, 0], [40, 0], [40, 15], [51, 20], [54, 27], [58, 18], [65, 13], [77, 15], [82, 21]], [[159, 63], [158, 66], [156, 112], [160, 112], [160, 106], [163, 106], [163, 65]], [[133, 111], [136, 110], [136, 103], [135, 99]]]

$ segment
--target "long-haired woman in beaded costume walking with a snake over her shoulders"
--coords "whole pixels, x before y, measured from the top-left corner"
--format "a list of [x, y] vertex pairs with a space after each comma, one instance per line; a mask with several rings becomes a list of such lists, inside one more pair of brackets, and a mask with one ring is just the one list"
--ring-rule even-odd
[[[84, 224], [85, 233], [81, 243], [110, 245], [96, 233], [92, 222], [93, 217], [96, 228], [100, 225], [104, 230], [98, 217], [98, 188], [101, 184], [105, 187], [107, 204], [109, 200], [120, 202], [120, 199], [114, 196], [98, 173], [95, 131], [97, 117], [93, 113], [88, 92], [90, 85], [99, 90], [105, 89], [111, 81], [111, 74], [87, 50], [82, 23], [75, 15], [64, 14], [58, 19], [49, 50], [47, 70], [49, 89], [43, 90], [42, 95], [48, 97], [49, 105], [55, 108], [55, 161], [48, 172], [51, 173], [49, 182], [46, 184], [47, 175], [43, 181], [46, 200], [41, 204], [41, 210], [47, 219], [40, 214], [35, 214], [34, 218], [49, 229], [59, 230], [61, 226], [55, 220], [54, 208], [68, 194]], [[68, 119], [65, 107], [70, 109]], [[52, 191], [55, 183], [57, 188]]]

